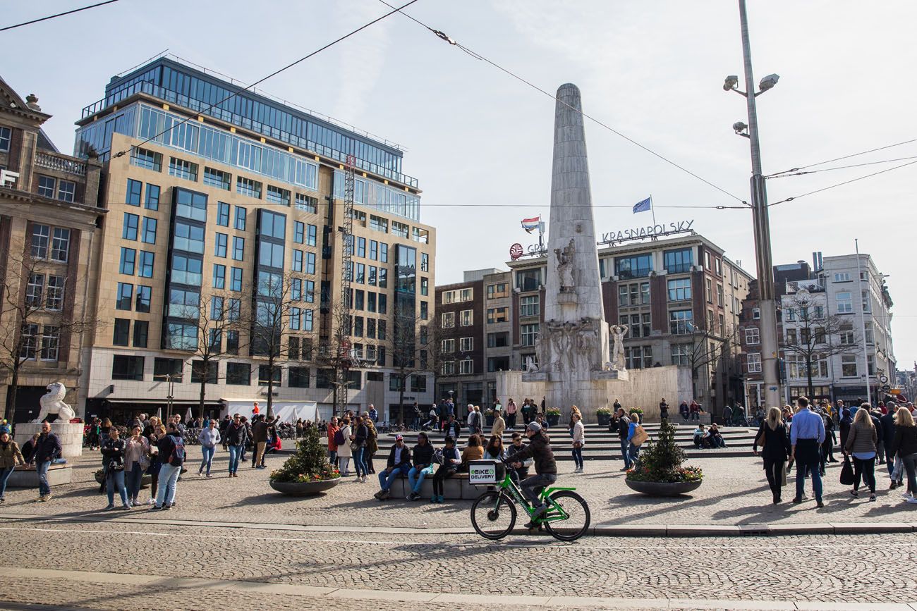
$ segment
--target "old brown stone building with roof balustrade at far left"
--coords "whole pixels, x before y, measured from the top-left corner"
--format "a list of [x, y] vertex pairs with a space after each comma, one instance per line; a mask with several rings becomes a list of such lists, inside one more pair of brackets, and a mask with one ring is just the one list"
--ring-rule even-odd
[[85, 306], [105, 216], [95, 206], [101, 164], [62, 155], [41, 129], [50, 116], [0, 79], [0, 400], [15, 422], [38, 416], [53, 382], [78, 402], [80, 347], [94, 326]]

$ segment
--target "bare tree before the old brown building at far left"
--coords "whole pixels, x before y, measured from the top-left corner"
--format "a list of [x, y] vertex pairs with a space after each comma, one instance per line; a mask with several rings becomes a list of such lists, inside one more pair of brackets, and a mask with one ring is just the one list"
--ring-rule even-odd
[[[0, 371], [8, 380], [5, 418], [15, 418], [19, 375], [39, 358], [60, 359], [96, 321], [75, 313], [60, 264], [33, 256], [7, 256], [0, 283]], [[82, 310], [82, 309], [81, 309]], [[64, 355], [66, 356], [66, 355]]]

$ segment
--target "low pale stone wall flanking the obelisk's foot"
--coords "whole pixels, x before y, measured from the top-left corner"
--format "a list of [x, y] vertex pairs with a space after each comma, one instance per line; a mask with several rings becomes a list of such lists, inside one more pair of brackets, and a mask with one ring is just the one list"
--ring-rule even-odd
[[[541, 398], [548, 395], [547, 385], [553, 383], [553, 372], [524, 373], [522, 371], [497, 372], [497, 397], [502, 401], [514, 398], [520, 403], [524, 398], [535, 399], [541, 404]], [[591, 379], [577, 382], [580, 396], [590, 396], [590, 405], [577, 405], [587, 422], [593, 422], [595, 410], [611, 407], [614, 399], [621, 401], [624, 409], [643, 409], [644, 419], [659, 420], [659, 401], [666, 398], [669, 406], [678, 406], [682, 398], [691, 398], [691, 369], [679, 366], [650, 367], [648, 369], [631, 369], [629, 371], [594, 371]], [[545, 407], [558, 407], [564, 416], [569, 413], [570, 403], [553, 406], [549, 400]], [[672, 418], [673, 409], [668, 409]], [[561, 419], [563, 420], [563, 419]]]

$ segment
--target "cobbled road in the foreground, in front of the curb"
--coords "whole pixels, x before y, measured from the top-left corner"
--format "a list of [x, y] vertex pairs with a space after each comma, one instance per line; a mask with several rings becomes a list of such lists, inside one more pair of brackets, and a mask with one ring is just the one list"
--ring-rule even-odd
[[[321, 608], [463, 608], [438, 601], [421, 604], [411, 598], [418, 595], [583, 596], [593, 601], [608, 596], [638, 599], [637, 608], [690, 606], [698, 599], [842, 608], [907, 604], [917, 592], [917, 574], [908, 569], [917, 556], [914, 534], [584, 538], [564, 544], [432, 534], [402, 539], [373, 533], [370, 525], [354, 520], [346, 524], [337, 535], [304, 535], [256, 528], [5, 520], [0, 530], [5, 557], [11, 560], [0, 560], [0, 600], [88, 608], [312, 609], [319, 608], [315, 592], [297, 596], [296, 587], [323, 587], [349, 590], [354, 600], [323, 599]], [[56, 585], [48, 573], [65, 583]], [[370, 604], [370, 597], [379, 596], [381, 601]], [[392, 603], [399, 596], [414, 602]], [[622, 605], [569, 601], [566, 607], [582, 606]]]

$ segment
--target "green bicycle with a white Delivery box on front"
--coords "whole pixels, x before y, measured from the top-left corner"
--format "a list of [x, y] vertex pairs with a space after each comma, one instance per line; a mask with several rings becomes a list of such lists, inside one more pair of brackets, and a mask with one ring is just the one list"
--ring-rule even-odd
[[505, 464], [472, 461], [469, 482], [475, 486], [499, 486], [478, 496], [471, 505], [471, 524], [485, 539], [503, 539], [513, 530], [516, 504], [525, 508], [525, 513], [539, 530], [544, 527], [555, 539], [575, 541], [589, 529], [589, 506], [586, 500], [575, 492], [576, 488], [544, 488], [539, 498], [547, 504], [547, 511], [537, 518], [532, 518], [535, 509], [529, 505], [522, 490], [507, 473]]

